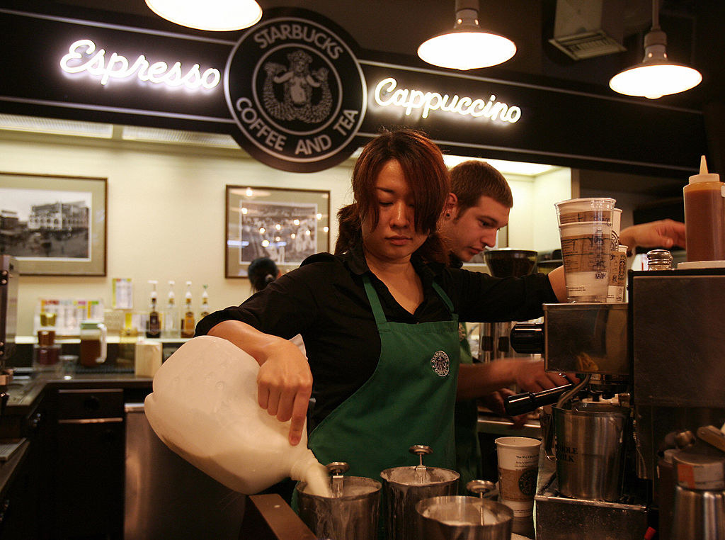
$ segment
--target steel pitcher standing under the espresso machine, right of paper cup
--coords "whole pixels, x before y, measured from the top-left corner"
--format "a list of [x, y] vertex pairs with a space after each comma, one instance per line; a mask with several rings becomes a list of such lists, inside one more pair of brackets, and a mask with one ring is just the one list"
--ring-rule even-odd
[[618, 500], [629, 409], [577, 401], [571, 403], [571, 409], [553, 406], [552, 410], [561, 494], [594, 501]]

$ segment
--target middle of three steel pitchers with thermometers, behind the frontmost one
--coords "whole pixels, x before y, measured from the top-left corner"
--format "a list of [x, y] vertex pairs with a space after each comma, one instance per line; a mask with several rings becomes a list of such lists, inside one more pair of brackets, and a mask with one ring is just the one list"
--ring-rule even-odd
[[421, 457], [416, 467], [393, 467], [380, 473], [384, 486], [384, 519], [389, 540], [418, 540], [418, 512], [415, 504], [435, 496], [457, 493], [460, 475], [454, 470], [423, 466], [428, 446], [411, 446]]

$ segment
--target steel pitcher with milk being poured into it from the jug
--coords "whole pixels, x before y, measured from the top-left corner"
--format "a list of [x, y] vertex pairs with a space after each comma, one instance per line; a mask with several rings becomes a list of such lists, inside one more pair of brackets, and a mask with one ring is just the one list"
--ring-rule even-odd
[[341, 476], [338, 470], [332, 487], [334, 496], [325, 497], [307, 493], [305, 482], [297, 484], [299, 517], [305, 525], [320, 539], [377, 540], [381, 483]]

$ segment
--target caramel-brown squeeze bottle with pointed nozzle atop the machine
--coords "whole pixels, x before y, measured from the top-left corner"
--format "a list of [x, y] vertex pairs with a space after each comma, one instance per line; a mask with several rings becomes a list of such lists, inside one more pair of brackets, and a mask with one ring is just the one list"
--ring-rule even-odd
[[682, 193], [687, 261], [725, 261], [725, 184], [708, 173], [704, 155]]

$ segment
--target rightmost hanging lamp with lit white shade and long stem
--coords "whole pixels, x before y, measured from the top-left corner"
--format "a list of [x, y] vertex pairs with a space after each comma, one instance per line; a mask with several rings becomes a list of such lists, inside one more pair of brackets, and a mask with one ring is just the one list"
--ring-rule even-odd
[[652, 28], [645, 36], [645, 60], [614, 75], [613, 91], [627, 96], [657, 99], [694, 88], [703, 80], [700, 72], [667, 59], [667, 36], [660, 29], [659, 0], [652, 2]]

